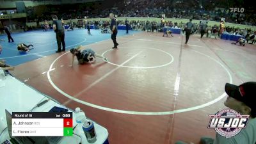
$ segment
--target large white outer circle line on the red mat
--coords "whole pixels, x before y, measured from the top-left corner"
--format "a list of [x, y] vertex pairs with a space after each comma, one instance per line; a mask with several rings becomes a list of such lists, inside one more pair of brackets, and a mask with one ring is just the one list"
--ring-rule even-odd
[[[232, 76], [231, 76], [230, 72], [228, 71], [228, 69], [222, 63], [220, 63], [220, 61], [217, 61], [214, 58], [211, 58], [211, 56], [208, 56], [207, 54], [204, 54], [202, 52], [198, 52], [198, 51], [195, 51], [195, 50], [191, 50], [191, 51], [196, 52], [198, 54], [202, 54], [203, 56], [205, 56], [207, 58], [210, 58], [212, 61], [215, 61], [216, 63], [218, 63], [227, 72], [228, 77], [230, 79], [229, 83], [231, 83], [231, 84], [233, 83], [233, 79], [232, 79]], [[65, 54], [68, 54], [68, 52], [66, 52]], [[65, 54], [61, 54], [61, 56], [65, 55]], [[72, 97], [71, 95], [68, 95], [68, 93], [63, 92], [63, 90], [58, 88], [58, 86], [56, 86], [56, 84], [54, 84], [52, 82], [52, 79], [51, 79], [51, 76], [50, 76], [50, 72], [52, 70], [52, 67], [53, 67], [54, 63], [57, 60], [59, 60], [61, 58], [61, 56], [56, 58], [51, 63], [51, 66], [49, 67], [49, 70], [47, 72], [47, 79], [51, 83], [52, 87], [55, 90], [57, 90], [58, 92], [60, 92], [62, 95], [67, 97], [68, 99], [72, 99], [72, 100], [74, 100], [76, 102], [79, 102], [81, 104], [84, 104], [86, 106], [90, 106], [92, 108], [101, 109], [101, 110], [104, 110], [104, 111], [111, 111], [111, 112], [115, 112], [115, 113], [124, 113], [124, 114], [129, 114], [129, 115], [172, 115], [173, 113], [182, 113], [182, 112], [187, 112], [187, 111], [194, 111], [196, 109], [200, 109], [200, 108], [204, 108], [206, 106], [210, 106], [211, 104], [214, 104], [214, 103], [220, 101], [221, 99], [223, 99], [226, 96], [226, 93], [224, 92], [219, 97], [217, 97], [216, 99], [211, 100], [210, 102], [206, 102], [205, 104], [200, 104], [198, 106], [193, 106], [193, 107], [190, 107], [190, 108], [177, 109], [177, 110], [174, 110], [174, 111], [159, 111], [159, 112], [153, 112], [153, 111], [152, 112], [151, 111], [127, 111], [127, 110], [121, 110], [121, 109], [107, 108], [107, 107], [104, 107], [104, 106], [99, 106], [99, 105], [96, 105], [96, 104], [92, 104], [90, 102], [86, 102], [86, 101], [77, 99], [76, 97]]]

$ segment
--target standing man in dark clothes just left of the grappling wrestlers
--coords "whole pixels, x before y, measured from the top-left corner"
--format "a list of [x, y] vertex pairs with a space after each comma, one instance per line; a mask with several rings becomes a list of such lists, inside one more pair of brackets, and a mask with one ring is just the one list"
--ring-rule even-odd
[[61, 20], [58, 20], [58, 17], [56, 15], [52, 15], [53, 19], [53, 30], [56, 33], [56, 40], [58, 44], [58, 51], [56, 53], [61, 52], [61, 44], [62, 44], [62, 51], [66, 51], [65, 47], [65, 32], [64, 28], [62, 26]]

